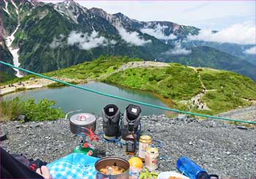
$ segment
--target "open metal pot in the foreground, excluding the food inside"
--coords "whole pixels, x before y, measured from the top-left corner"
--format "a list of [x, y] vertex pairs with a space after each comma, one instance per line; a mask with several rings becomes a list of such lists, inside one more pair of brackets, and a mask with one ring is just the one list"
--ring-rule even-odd
[[[107, 166], [117, 166], [122, 167], [125, 171], [118, 175], [105, 175], [99, 172], [102, 168]], [[99, 159], [94, 165], [97, 175], [97, 179], [108, 178], [108, 179], [128, 179], [129, 178], [129, 162], [125, 159], [121, 159], [118, 157], [105, 157]]]

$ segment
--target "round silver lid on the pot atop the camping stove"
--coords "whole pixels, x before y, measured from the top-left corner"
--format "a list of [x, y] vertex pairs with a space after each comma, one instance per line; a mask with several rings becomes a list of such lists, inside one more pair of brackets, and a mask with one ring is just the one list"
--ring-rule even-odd
[[70, 122], [76, 125], [87, 125], [94, 123], [96, 121], [96, 117], [89, 113], [78, 113], [72, 115], [70, 118]]

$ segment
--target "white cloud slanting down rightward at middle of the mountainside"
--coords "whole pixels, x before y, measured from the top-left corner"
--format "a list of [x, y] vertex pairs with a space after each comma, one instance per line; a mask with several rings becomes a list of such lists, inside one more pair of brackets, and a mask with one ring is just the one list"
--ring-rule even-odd
[[146, 43], [151, 42], [150, 39], [149, 40], [140, 39], [139, 33], [137, 31], [129, 32], [122, 27], [119, 27], [117, 29], [119, 31], [121, 39], [124, 39], [124, 41], [129, 44], [142, 46], [142, 45], [145, 45]]

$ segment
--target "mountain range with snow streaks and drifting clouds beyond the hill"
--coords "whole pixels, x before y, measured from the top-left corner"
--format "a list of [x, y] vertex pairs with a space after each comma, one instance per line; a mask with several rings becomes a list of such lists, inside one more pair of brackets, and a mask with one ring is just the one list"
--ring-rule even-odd
[[[110, 15], [104, 9], [87, 9], [75, 1], [46, 4], [4, 0], [0, 5], [4, 27], [1, 60], [18, 61], [34, 72], [50, 72], [112, 55], [207, 66], [256, 79], [255, 56], [244, 53], [255, 45], [205, 42], [195, 38], [200, 29], [193, 26], [138, 21], [120, 12]], [[1, 71], [15, 74], [5, 66]]]

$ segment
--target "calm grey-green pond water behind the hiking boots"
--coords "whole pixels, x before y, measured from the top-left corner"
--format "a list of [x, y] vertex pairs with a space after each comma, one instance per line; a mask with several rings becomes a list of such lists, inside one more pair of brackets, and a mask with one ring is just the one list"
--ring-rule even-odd
[[[167, 105], [160, 101], [156, 96], [149, 94], [145, 91], [132, 90], [129, 88], [120, 88], [114, 85], [108, 85], [99, 82], [90, 82], [81, 86], [91, 88], [97, 91], [102, 91], [103, 93], [121, 96], [127, 99], [133, 99], [140, 102], [146, 102], [162, 107], [167, 107]], [[97, 115], [101, 114], [102, 107], [105, 107], [105, 105], [107, 104], [116, 104], [121, 110], [121, 113], [124, 113], [124, 109], [125, 107], [127, 107], [128, 104], [132, 104], [130, 102], [124, 102], [119, 99], [101, 96], [99, 94], [94, 94], [72, 87], [45, 88], [31, 91], [22, 91], [15, 94], [9, 94], [7, 96], [4, 96], [4, 98], [6, 99], [15, 96], [19, 96], [21, 99], [24, 100], [30, 98], [34, 98], [36, 100], [49, 99], [56, 101], [55, 107], [61, 107], [61, 109], [65, 112], [81, 109], [84, 113], [94, 113]], [[140, 105], [140, 107], [142, 109], [142, 115], [159, 115], [166, 113], [165, 110], [159, 110], [143, 105]]]

